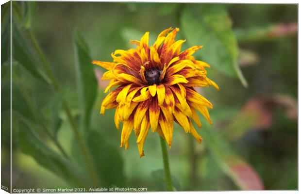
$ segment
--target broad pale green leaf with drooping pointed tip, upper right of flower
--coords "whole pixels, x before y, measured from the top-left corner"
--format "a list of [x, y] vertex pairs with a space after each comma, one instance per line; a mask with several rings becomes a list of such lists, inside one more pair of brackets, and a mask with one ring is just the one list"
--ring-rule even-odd
[[188, 5], [181, 16], [182, 32], [189, 46], [204, 46], [195, 55], [221, 72], [238, 77], [247, 87], [237, 63], [238, 46], [231, 27], [232, 21], [223, 5]]

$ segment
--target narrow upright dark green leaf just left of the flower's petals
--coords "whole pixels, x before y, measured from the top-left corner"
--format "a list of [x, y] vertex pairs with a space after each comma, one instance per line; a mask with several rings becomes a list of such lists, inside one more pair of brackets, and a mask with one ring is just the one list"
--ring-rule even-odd
[[82, 111], [82, 126], [89, 129], [91, 110], [97, 95], [97, 80], [94, 75], [92, 59], [84, 38], [79, 32], [74, 35], [75, 66], [80, 105]]

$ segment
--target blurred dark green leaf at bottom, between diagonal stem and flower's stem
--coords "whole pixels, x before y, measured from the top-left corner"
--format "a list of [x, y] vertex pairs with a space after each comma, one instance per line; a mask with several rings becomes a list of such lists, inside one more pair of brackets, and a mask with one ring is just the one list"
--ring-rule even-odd
[[102, 186], [123, 186], [125, 179], [123, 160], [118, 148], [110, 142], [110, 139], [93, 130], [87, 136], [87, 144]]

